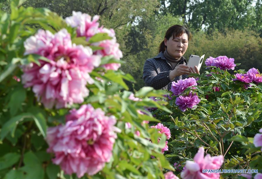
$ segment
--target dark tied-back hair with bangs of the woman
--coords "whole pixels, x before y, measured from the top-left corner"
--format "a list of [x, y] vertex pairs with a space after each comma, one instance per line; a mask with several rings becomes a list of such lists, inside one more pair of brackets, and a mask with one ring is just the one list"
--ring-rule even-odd
[[[166, 31], [166, 35], [165, 38], [169, 39], [172, 35], [173, 35], [173, 39], [175, 37], [180, 37], [182, 34], [186, 33], [188, 40], [191, 39], [191, 33], [189, 32], [189, 30], [181, 25], [173, 25], [171, 27], [168, 28], [168, 30]], [[163, 40], [161, 42], [161, 44], [159, 45], [159, 53], [162, 51], [164, 52], [166, 50], [166, 45], [165, 45], [165, 41]]]

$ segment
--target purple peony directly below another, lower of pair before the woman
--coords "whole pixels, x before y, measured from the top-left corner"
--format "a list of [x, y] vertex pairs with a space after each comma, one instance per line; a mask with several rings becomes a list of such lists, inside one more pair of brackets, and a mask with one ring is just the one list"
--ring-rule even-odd
[[193, 108], [200, 102], [198, 96], [189, 92], [187, 96], [179, 96], [177, 97], [175, 104], [181, 109], [181, 111], [186, 111], [187, 108]]

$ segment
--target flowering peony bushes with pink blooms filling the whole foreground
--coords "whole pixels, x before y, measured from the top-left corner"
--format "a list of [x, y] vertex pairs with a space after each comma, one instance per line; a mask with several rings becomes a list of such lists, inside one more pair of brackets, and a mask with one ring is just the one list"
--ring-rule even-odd
[[[261, 178], [256, 68], [209, 57], [169, 92], [133, 94], [99, 16], [63, 19], [22, 2], [1, 11], [2, 178]], [[257, 172], [203, 172], [219, 169]]]

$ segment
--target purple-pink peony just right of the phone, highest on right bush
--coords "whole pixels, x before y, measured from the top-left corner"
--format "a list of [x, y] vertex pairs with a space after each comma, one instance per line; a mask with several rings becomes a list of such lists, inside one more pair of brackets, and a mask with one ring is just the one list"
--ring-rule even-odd
[[234, 70], [235, 63], [234, 58], [228, 58], [227, 56], [218, 56], [217, 58], [209, 57], [205, 61], [206, 66], [216, 66], [221, 70]]

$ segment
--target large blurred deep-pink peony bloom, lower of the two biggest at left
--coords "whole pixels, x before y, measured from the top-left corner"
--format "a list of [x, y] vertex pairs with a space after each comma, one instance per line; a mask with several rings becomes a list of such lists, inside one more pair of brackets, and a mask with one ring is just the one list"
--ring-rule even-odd
[[66, 124], [50, 127], [46, 141], [53, 152], [53, 163], [67, 174], [94, 175], [109, 162], [119, 129], [114, 116], [105, 116], [101, 109], [90, 104], [73, 109], [66, 116]]

